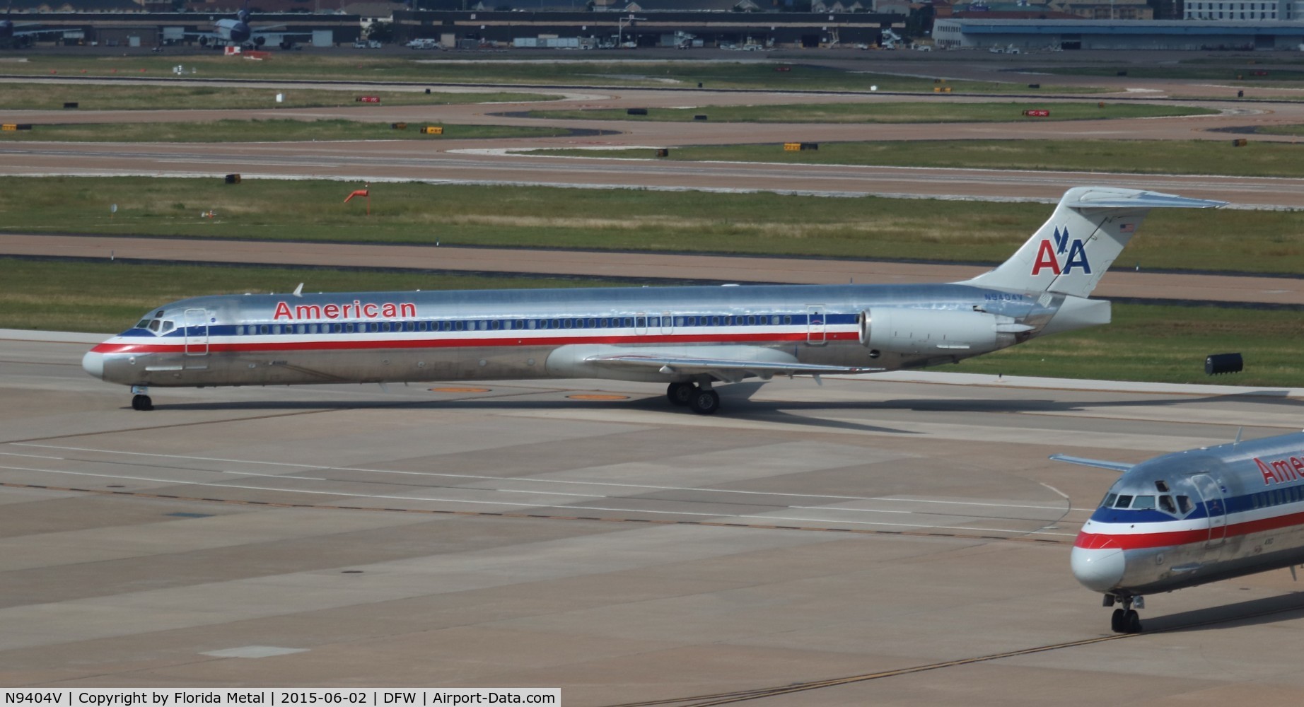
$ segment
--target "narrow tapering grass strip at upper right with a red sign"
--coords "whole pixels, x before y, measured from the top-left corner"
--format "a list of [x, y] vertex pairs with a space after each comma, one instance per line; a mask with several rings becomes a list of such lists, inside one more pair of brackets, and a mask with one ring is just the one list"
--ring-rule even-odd
[[[1028, 108], [1050, 108], [1050, 117], [1026, 117]], [[1214, 115], [1218, 111], [1187, 106], [1145, 103], [952, 103], [944, 100], [816, 103], [785, 106], [696, 106], [690, 108], [647, 108], [647, 115], [625, 110], [529, 111], [531, 117], [583, 120], [651, 120], [691, 123], [705, 115], [713, 123], [1011, 123], [1046, 120], [1101, 120], [1118, 117], [1167, 117]]]

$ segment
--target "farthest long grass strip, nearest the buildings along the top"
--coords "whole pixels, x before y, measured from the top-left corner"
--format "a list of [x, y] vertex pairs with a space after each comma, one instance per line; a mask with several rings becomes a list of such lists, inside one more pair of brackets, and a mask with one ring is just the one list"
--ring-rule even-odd
[[[267, 61], [245, 61], [215, 55], [194, 56], [29, 56], [29, 61], [5, 64], [5, 72], [27, 76], [171, 76], [177, 64], [192, 68], [196, 78], [331, 78], [336, 81], [400, 81], [428, 83], [509, 83], [572, 86], [659, 86], [695, 89], [781, 89], [932, 93], [932, 78], [859, 73], [849, 69], [812, 67], [801, 63], [722, 61], [639, 61], [576, 56], [574, 63], [556, 63], [553, 55], [539, 60], [442, 59], [439, 55], [412, 52], [412, 56], [321, 56], [274, 52]], [[778, 72], [776, 67], [790, 70]], [[113, 73], [116, 72], [116, 73]], [[186, 74], [189, 77], [192, 74]], [[1026, 82], [953, 81], [956, 93], [1029, 93]], [[1095, 93], [1090, 87], [1045, 85], [1041, 93]], [[1031, 93], [1038, 93], [1031, 90]]]

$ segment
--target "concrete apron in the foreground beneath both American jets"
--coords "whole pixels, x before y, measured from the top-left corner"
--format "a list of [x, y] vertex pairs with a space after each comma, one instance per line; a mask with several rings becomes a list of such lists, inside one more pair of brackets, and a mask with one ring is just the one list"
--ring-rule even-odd
[[81, 370], [94, 337], [14, 337], [7, 686], [1095, 706], [1304, 682], [1284, 571], [1110, 634], [1068, 550], [1112, 475], [1046, 459], [1286, 432], [1304, 391], [827, 378], [726, 386], [703, 419], [660, 386], [493, 382], [155, 390], [140, 414]]

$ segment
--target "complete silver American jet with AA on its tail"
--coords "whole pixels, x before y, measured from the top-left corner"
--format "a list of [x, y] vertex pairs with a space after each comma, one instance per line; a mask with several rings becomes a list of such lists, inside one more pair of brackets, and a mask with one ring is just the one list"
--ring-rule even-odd
[[709, 415], [716, 384], [956, 363], [1108, 323], [1088, 296], [1155, 207], [1221, 201], [1078, 187], [1008, 261], [951, 284], [216, 295], [151, 309], [94, 347], [132, 386], [615, 378]]

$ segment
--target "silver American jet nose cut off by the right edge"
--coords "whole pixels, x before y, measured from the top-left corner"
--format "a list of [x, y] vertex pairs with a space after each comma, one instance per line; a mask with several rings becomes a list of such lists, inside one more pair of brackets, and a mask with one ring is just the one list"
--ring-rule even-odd
[[1145, 595], [1304, 562], [1304, 433], [1123, 464], [1073, 544], [1073, 577], [1104, 594], [1116, 633], [1140, 633]]

